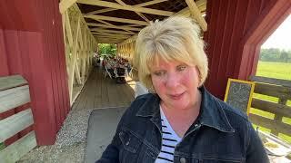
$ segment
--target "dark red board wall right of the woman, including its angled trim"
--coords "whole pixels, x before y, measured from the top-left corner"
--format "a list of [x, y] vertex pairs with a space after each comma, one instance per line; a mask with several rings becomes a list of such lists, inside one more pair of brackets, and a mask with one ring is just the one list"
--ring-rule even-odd
[[207, 0], [206, 88], [223, 99], [228, 78], [255, 74], [261, 44], [290, 11], [290, 0]]

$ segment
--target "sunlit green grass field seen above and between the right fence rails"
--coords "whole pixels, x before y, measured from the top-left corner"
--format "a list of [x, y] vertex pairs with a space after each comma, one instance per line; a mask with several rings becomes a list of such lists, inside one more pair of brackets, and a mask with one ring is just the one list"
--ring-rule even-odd
[[[285, 62], [258, 62], [257, 70], [256, 70], [256, 76], [265, 76], [269, 78], [276, 78], [276, 79], [284, 79], [291, 81], [291, 63], [285, 63]], [[261, 94], [254, 94], [254, 97], [258, 99], [263, 99], [266, 101], [274, 101], [278, 102], [278, 98], [270, 97], [266, 95]], [[287, 101], [287, 105], [291, 106], [291, 101]], [[251, 113], [266, 117], [268, 119], [274, 119], [274, 114], [263, 111], [263, 110], [256, 110], [251, 109]], [[291, 119], [283, 117], [282, 120], [284, 123], [291, 125]], [[254, 125], [256, 127], [256, 125]], [[261, 128], [260, 129], [270, 132], [270, 129]], [[281, 139], [285, 139], [288, 143], [291, 144], [291, 136], [287, 136], [284, 134], [279, 134], [279, 137]]]

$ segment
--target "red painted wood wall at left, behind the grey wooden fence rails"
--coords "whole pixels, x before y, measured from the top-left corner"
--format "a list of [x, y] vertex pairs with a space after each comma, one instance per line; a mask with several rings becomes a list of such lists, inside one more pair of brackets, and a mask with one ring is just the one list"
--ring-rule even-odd
[[[28, 81], [31, 95], [28, 106], [33, 110], [38, 145], [55, 143], [56, 132], [70, 110], [58, 3], [58, 0], [0, 1], [0, 76], [21, 74]], [[17, 111], [6, 112], [0, 118]]]

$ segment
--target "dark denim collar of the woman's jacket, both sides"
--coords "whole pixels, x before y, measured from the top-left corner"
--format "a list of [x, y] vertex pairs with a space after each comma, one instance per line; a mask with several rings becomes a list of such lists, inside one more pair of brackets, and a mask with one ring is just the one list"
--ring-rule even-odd
[[[226, 117], [226, 112], [222, 108], [219, 101], [208, 91], [206, 91], [204, 86], [200, 87], [199, 90], [202, 94], [202, 101], [200, 113], [196, 122], [200, 123], [202, 126], [208, 126], [223, 132], [234, 132], [235, 129], [233, 129], [230, 125], [229, 120]], [[144, 102], [144, 104], [137, 111], [136, 116], [151, 117], [158, 120], [160, 117], [159, 103], [160, 98], [157, 94], [153, 94], [146, 99], [146, 102]]]

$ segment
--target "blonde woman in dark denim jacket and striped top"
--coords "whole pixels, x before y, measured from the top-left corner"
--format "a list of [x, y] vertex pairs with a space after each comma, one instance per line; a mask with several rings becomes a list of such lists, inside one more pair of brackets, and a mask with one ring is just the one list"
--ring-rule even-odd
[[125, 111], [97, 162], [268, 162], [246, 114], [212, 96], [198, 26], [170, 17], [143, 29], [135, 66], [153, 93]]

